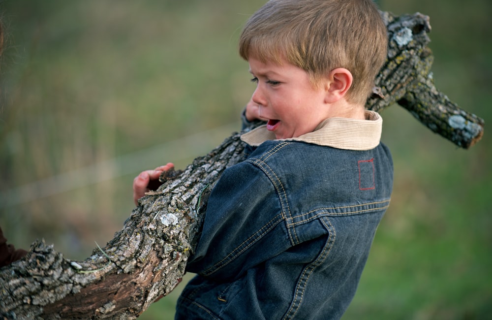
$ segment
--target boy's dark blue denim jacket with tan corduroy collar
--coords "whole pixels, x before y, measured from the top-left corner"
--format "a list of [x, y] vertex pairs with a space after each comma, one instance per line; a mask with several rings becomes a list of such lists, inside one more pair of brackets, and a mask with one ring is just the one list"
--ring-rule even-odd
[[242, 136], [207, 205], [176, 319], [339, 319], [390, 202], [382, 119], [331, 118], [299, 138]]

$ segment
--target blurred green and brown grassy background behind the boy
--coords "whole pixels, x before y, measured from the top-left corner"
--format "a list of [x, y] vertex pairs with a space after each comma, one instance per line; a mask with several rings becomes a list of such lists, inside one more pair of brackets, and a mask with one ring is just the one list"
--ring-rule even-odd
[[[184, 168], [240, 128], [254, 85], [237, 39], [264, 0], [2, 0], [0, 225], [71, 259], [133, 209], [132, 181]], [[431, 17], [438, 89], [491, 121], [492, 2], [380, 0]], [[492, 318], [492, 140], [470, 150], [400, 106], [382, 112], [395, 161], [352, 319]], [[182, 285], [183, 287], [183, 285]], [[141, 319], [173, 319], [179, 289]]]

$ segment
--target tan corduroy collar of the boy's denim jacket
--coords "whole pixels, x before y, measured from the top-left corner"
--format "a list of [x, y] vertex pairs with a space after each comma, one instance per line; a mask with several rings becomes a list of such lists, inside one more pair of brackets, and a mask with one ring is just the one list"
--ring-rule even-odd
[[[366, 110], [366, 120], [329, 118], [312, 132], [278, 141], [303, 141], [337, 149], [370, 150], [379, 145], [382, 127], [381, 116], [377, 112]], [[264, 125], [243, 134], [241, 140], [250, 146], [259, 146], [267, 140], [276, 139], [275, 134]]]

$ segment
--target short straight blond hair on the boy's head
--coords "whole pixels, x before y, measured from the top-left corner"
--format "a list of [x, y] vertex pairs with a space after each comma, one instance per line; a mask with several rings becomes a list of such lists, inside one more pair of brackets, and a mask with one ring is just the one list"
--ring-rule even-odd
[[317, 82], [342, 67], [353, 76], [347, 100], [365, 104], [386, 60], [386, 26], [372, 0], [270, 0], [246, 22], [246, 61], [287, 62]]

